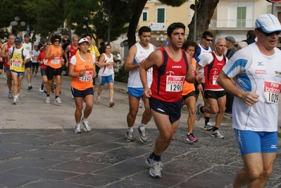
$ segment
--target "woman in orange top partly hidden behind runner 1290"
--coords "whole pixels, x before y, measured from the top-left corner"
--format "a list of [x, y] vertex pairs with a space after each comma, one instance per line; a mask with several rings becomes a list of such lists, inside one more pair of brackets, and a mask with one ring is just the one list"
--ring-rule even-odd
[[[192, 57], [191, 67], [192, 67], [193, 74], [195, 73], [195, 68], [196, 68], [196, 61], [193, 58], [196, 48], [197, 48], [197, 44], [195, 42], [185, 42], [182, 45], [182, 49], [185, 49], [187, 54], [189, 54]], [[188, 109], [188, 118], [187, 118], [188, 131], [187, 131], [186, 141], [198, 142], [198, 139], [194, 137], [193, 134], [193, 127], [195, 123], [195, 104], [196, 104], [194, 84], [185, 81], [182, 88], [182, 101], [183, 104], [187, 105], [187, 109]]]

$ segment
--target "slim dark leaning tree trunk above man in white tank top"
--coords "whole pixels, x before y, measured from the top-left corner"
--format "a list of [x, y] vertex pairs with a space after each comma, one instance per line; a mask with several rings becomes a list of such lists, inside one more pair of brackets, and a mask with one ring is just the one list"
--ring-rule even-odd
[[147, 0], [137, 0], [135, 3], [135, 11], [132, 15], [132, 18], [130, 20], [130, 25], [129, 25], [128, 31], [127, 31], [129, 49], [132, 45], [134, 45], [136, 43], [135, 33], [137, 30], [137, 24], [139, 23], [139, 18], [142, 15], [142, 10], [144, 9], [146, 1]]

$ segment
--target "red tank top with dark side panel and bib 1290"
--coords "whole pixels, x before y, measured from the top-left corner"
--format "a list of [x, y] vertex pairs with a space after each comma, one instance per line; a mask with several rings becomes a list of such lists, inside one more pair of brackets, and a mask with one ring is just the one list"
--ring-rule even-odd
[[164, 48], [162, 52], [162, 63], [154, 68], [151, 84], [151, 97], [165, 102], [175, 102], [182, 99], [182, 85], [189, 68], [187, 56], [182, 50], [180, 61], [173, 61]]

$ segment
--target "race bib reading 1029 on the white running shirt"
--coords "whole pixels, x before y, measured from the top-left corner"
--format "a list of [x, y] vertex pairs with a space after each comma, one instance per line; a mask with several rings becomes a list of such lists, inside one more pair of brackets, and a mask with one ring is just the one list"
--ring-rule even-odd
[[278, 104], [280, 89], [280, 83], [265, 81], [263, 84], [263, 99], [266, 103]]

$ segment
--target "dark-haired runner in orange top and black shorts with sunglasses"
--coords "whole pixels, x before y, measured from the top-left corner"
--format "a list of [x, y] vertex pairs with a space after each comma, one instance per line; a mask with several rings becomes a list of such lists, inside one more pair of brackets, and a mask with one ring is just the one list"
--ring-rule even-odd
[[48, 59], [46, 67], [46, 76], [48, 78], [48, 82], [46, 83], [46, 104], [50, 104], [50, 92], [54, 76], [56, 77], [56, 97], [54, 102], [61, 104], [61, 99], [58, 96], [61, 92], [61, 66], [64, 63], [64, 51], [60, 44], [61, 37], [54, 35], [51, 37], [51, 45], [46, 49], [45, 59]]

